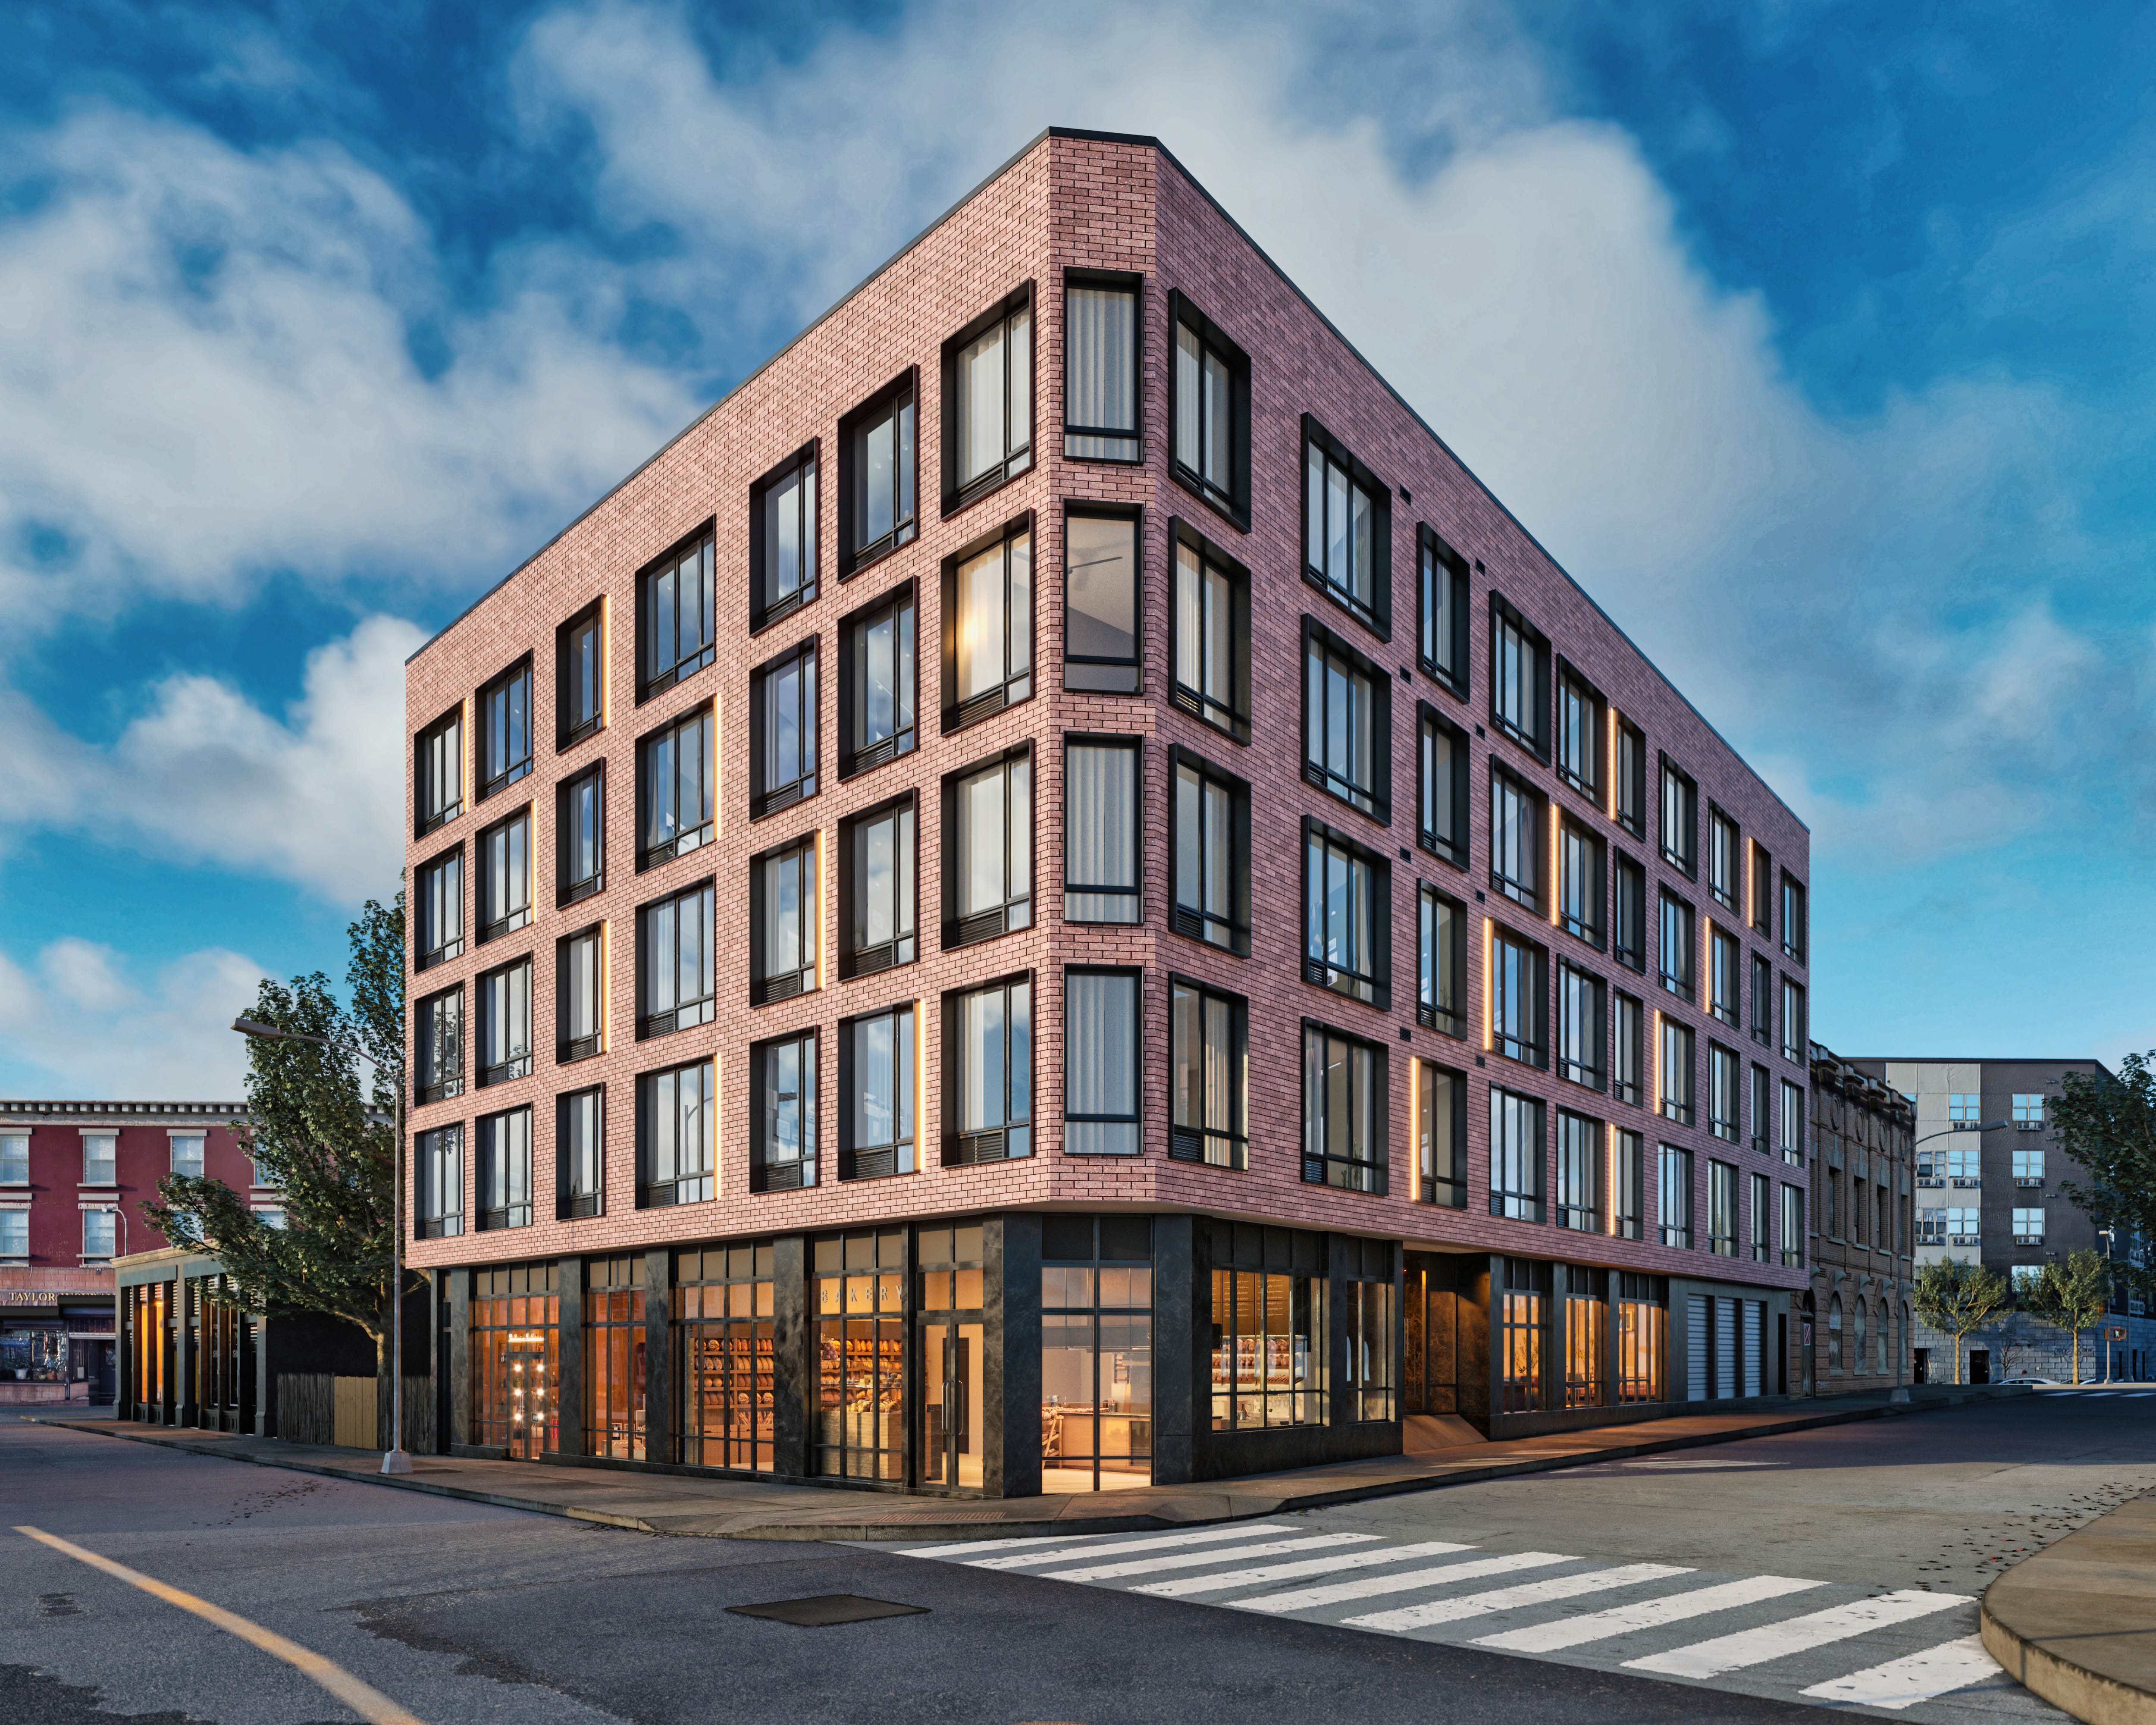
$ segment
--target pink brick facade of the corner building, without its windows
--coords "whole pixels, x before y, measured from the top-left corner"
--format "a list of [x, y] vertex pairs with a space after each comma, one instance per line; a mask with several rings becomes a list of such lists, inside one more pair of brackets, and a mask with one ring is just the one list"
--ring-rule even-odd
[[[1143, 276], [1141, 300], [1141, 386], [1143, 461], [1110, 466], [1063, 457], [1063, 293], [1069, 270], [1134, 272]], [[942, 345], [1022, 285], [1033, 285], [1035, 388], [1031, 472], [990, 496], [944, 513], [936, 425], [940, 423]], [[1177, 483], [1169, 453], [1169, 377], [1173, 330], [1169, 293], [1188, 295], [1250, 356], [1250, 492], [1248, 530], [1201, 502]], [[921, 522], [916, 543], [839, 580], [837, 546], [837, 425], [852, 408], [875, 395], [893, 377], [916, 369], [921, 425]], [[1302, 580], [1302, 420], [1311, 414], [1348, 444], [1356, 459], [1393, 487], [1391, 496], [1391, 640], [1363, 627], [1343, 608]], [[748, 533], [750, 485], [802, 444], [817, 440], [819, 485], [819, 595], [772, 627], [752, 634], [748, 619]], [[1080, 694], [1061, 686], [1063, 664], [1063, 509], [1072, 500], [1134, 505], [1141, 528], [1141, 656], [1143, 679], [1136, 696]], [[1031, 515], [1035, 533], [1035, 625], [1033, 699], [959, 729], [938, 724], [938, 643], [942, 638], [940, 569], [959, 546], [1011, 518]], [[1250, 569], [1253, 712], [1248, 744], [1227, 740], [1169, 701], [1173, 684], [1173, 640], [1169, 619], [1169, 571], [1173, 546], [1169, 522], [1181, 518]], [[716, 664], [679, 686], [638, 703], [634, 632], [636, 576], [668, 546], [703, 524], [716, 530], [718, 561], [718, 658]], [[1462, 552], [1473, 576], [1468, 584], [1466, 699], [1457, 699], [1414, 664], [1416, 617], [1416, 526], [1427, 524]], [[903, 582], [918, 597], [918, 699], [921, 748], [854, 778], [837, 776], [839, 737], [839, 640], [837, 625], [847, 612]], [[522, 953], [535, 964], [535, 1070], [533, 1076], [464, 1095], [414, 1106], [412, 1132], [438, 1123], [461, 1123], [470, 1134], [483, 1113], [528, 1104], [535, 1130], [535, 1220], [509, 1233], [461, 1233], [444, 1240], [414, 1240], [412, 1261], [446, 1272], [461, 1266], [494, 1266], [526, 1259], [563, 1261], [580, 1255], [645, 1253], [675, 1242], [750, 1240], [852, 1229], [931, 1216], [1024, 1214], [1050, 1210], [1194, 1214], [1261, 1220], [1332, 1236], [1363, 1236], [1395, 1242], [1406, 1251], [1449, 1255], [1516, 1255], [1561, 1259], [1583, 1266], [1630, 1270], [1647, 1276], [1703, 1279], [1744, 1285], [1755, 1300], [1787, 1313], [1789, 1289], [1805, 1287], [1800, 1266], [1753, 1264], [1710, 1257], [1703, 1238], [1708, 1214], [1708, 1164], [1712, 1158], [1742, 1169], [1738, 1177], [1744, 1214], [1738, 1240], [1751, 1236], [1751, 1173], [1766, 1173], [1777, 1186], [1787, 1177], [1802, 1184], [1802, 1171], [1781, 1158], [1757, 1156], [1738, 1145], [1720, 1145], [1705, 1121], [1705, 1052], [1710, 1037], [1740, 1050], [1740, 1067], [1774, 1074], [1774, 1082], [1802, 1085], [1802, 1061], [1789, 1063], [1779, 1048], [1759, 1048], [1738, 1029], [1716, 1029], [1701, 1005], [1682, 1005], [1654, 992], [1649, 975], [1630, 977], [1611, 953], [1570, 942], [1548, 916], [1526, 932], [1557, 957], [1576, 960], [1613, 988], [1639, 994], [1649, 1007], [1684, 1018], [1697, 1029], [1699, 1126], [1658, 1121], [1643, 1106], [1613, 1102], [1561, 1082], [1552, 1070], [1526, 1067], [1490, 1052], [1481, 1033], [1483, 1003], [1483, 916], [1496, 895], [1490, 886], [1488, 774], [1490, 759], [1563, 809], [1591, 824], [1598, 834], [1639, 858], [1647, 869], [1647, 906], [1656, 888], [1669, 884], [1695, 903], [1701, 916], [1718, 914], [1705, 884], [1684, 878], [1656, 856], [1649, 839], [1632, 839], [1615, 828], [1604, 809], [1563, 785], [1550, 765], [1503, 740], [1490, 724], [1490, 595], [1501, 593], [1535, 630], [1606, 696], [1611, 709], [1641, 727], [1651, 761], [1667, 753], [1699, 785], [1699, 824], [1705, 809], [1727, 811], [1746, 841], [1764, 845], [1777, 871], [1796, 880], [1807, 873], [1807, 832], [1772, 791], [1733, 755], [1699, 714], [1649, 666], [1619, 630], [1572, 580], [1550, 563], [1505, 509], [1453, 459], [1414, 414], [1363, 364], [1324, 323], [1296, 289], [1263, 259], [1225, 213], [1184, 175], [1164, 151], [1147, 140], [1110, 140], [1050, 134], [1026, 149], [1000, 175], [979, 188], [914, 246], [893, 259], [841, 306], [815, 323], [763, 371], [746, 380], [718, 408], [683, 431], [668, 448], [623, 481], [610, 496], [569, 526], [509, 580], [479, 599], [464, 617], [429, 643], [407, 666], [407, 759], [418, 733], [442, 714], [464, 709], [466, 750], [474, 696], [492, 677], [530, 653], [535, 673], [535, 765], [515, 785], [472, 806], [444, 828], [407, 841], [407, 869], [461, 845], [466, 858], [466, 929], [476, 927], [470, 908], [474, 880], [474, 837], [498, 817], [530, 802], [533, 854], [537, 858], [535, 914], [530, 927], [496, 942], [466, 938], [459, 957], [412, 977], [412, 998], [461, 983], [466, 990], [466, 1041], [472, 1037], [474, 979]], [[567, 750], [554, 746], [556, 630], [593, 602], [606, 608], [606, 722]], [[1315, 617], [1356, 651], [1373, 658], [1391, 679], [1393, 815], [1378, 824], [1345, 809], [1302, 776], [1302, 619]], [[765, 819], [750, 819], [748, 722], [750, 673], [791, 645], [819, 643], [819, 794]], [[1414, 841], [1416, 701], [1429, 701], [1473, 737], [1470, 746], [1470, 867], [1440, 862]], [[660, 867], [636, 869], [634, 785], [636, 744], [681, 712], [716, 703], [718, 714], [718, 834], [716, 841]], [[1063, 882], [1063, 737], [1067, 733], [1110, 733], [1143, 740], [1143, 919], [1134, 927], [1067, 925], [1056, 914]], [[957, 951], [938, 942], [938, 903], [944, 832], [938, 787], [946, 774], [1028, 744], [1035, 761], [1035, 925]], [[1253, 785], [1253, 949], [1248, 957], [1225, 953], [1171, 929], [1171, 837], [1169, 804], [1171, 746], [1186, 746]], [[591, 761], [606, 765], [606, 891], [593, 899], [558, 908], [554, 895], [556, 837], [554, 794]], [[466, 776], [468, 787], [476, 774]], [[746, 977], [750, 942], [750, 858], [778, 843], [819, 834], [821, 927], [839, 927], [837, 834], [841, 822], [886, 798], [912, 789], [918, 832], [918, 925], [921, 960], [860, 981], [839, 981], [828, 962], [821, 985], [804, 996], [770, 1007], [752, 1007]], [[416, 798], [416, 789], [414, 789]], [[1348, 832], [1393, 862], [1391, 888], [1391, 1009], [1345, 1000], [1302, 979], [1302, 819], [1317, 817]], [[1651, 819], [1651, 815], [1649, 815]], [[418, 828], [416, 800], [407, 806], [407, 834]], [[664, 1039], [638, 1041], [636, 1029], [636, 908], [677, 886], [711, 878], [718, 899], [718, 1018]], [[1414, 882], [1429, 880], [1468, 908], [1466, 1020], [1477, 1026], [1468, 1039], [1416, 1026]], [[1514, 910], [1507, 906], [1507, 910]], [[606, 1037], [604, 1052], [561, 1067], [554, 1061], [554, 964], [556, 940], [604, 921], [606, 951]], [[1522, 921], [1514, 914], [1509, 921]], [[1770, 947], [1766, 936], [1742, 925], [1742, 912], [1727, 919], [1742, 936], [1746, 953], [1744, 1013], [1751, 1013], [1751, 953], [1770, 960], [1774, 977], [1805, 981], [1800, 960]], [[1649, 929], [1651, 940], [1651, 929]], [[1078, 1158], [1063, 1154], [1061, 1132], [1061, 972], [1069, 964], [1110, 964], [1143, 970], [1143, 1154], [1136, 1158]], [[1701, 966], [1703, 968], [1703, 966]], [[936, 1033], [942, 996], [1009, 972], [1031, 972], [1035, 981], [1035, 1154], [1026, 1160], [940, 1167], [936, 1154], [944, 1132], [942, 1041]], [[1166, 1156], [1169, 1138], [1169, 977], [1192, 977], [1248, 1000], [1248, 1169], [1231, 1171], [1177, 1162]], [[923, 1061], [918, 1087], [918, 1143], [923, 1171], [886, 1179], [839, 1182], [837, 1031], [841, 1020], [890, 1003], [921, 1007]], [[1388, 1192], [1354, 1192], [1302, 1179], [1302, 1070], [1300, 1024], [1324, 1020], [1365, 1037], [1388, 1054]], [[819, 1033], [819, 1145], [817, 1184], [808, 1190], [750, 1192], [748, 1145], [752, 1130], [748, 1050], [772, 1035], [815, 1029]], [[1604, 1035], [1608, 1026], [1604, 1024]], [[1798, 1037], [1802, 1044], [1802, 1037]], [[1466, 1208], [1440, 1210], [1416, 1201], [1414, 1121], [1410, 1117], [1408, 1057], [1416, 1054], [1466, 1076]], [[638, 1210], [634, 1085], [640, 1072], [696, 1057], [716, 1057], [718, 1070], [718, 1197], [711, 1203], [668, 1210]], [[1651, 1057], [1651, 1050], [1649, 1050]], [[476, 1061], [466, 1057], [466, 1072]], [[1488, 1100], [1485, 1082], [1544, 1098], [1552, 1110], [1570, 1106], [1611, 1128], [1643, 1134], [1647, 1147], [1645, 1240], [1602, 1233], [1559, 1233], [1550, 1225], [1503, 1220], [1490, 1214]], [[1649, 1074], [1651, 1082], [1651, 1074]], [[606, 1091], [606, 1201], [602, 1216], [554, 1218], [554, 1098], [591, 1085]], [[1744, 1106], [1749, 1108], [1749, 1095]], [[1695, 1214], [1701, 1218], [1697, 1248], [1656, 1244], [1654, 1154], [1658, 1143], [1695, 1151]], [[464, 1216], [476, 1216], [470, 1190], [476, 1158], [464, 1158]], [[468, 1220], [470, 1225], [470, 1220]], [[1777, 1218], [1779, 1225], [1779, 1218]], [[1740, 1244], [1740, 1251], [1744, 1246]], [[1682, 1328], [1677, 1298], [1671, 1322]], [[1393, 1443], [1397, 1443], [1397, 1432]], [[1013, 1475], [1018, 1477], [1018, 1475]]]

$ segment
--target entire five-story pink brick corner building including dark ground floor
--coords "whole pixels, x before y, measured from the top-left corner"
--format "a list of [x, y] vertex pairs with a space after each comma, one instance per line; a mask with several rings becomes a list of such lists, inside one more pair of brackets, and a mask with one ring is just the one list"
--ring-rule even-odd
[[1789, 1389], [1802, 824], [1151, 138], [405, 709], [457, 1445], [1015, 1496]]

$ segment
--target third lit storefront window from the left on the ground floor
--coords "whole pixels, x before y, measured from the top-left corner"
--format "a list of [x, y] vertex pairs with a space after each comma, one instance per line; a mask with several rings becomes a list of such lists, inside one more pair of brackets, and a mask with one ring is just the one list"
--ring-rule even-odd
[[774, 1292], [770, 1242], [675, 1253], [683, 1462], [772, 1471]]

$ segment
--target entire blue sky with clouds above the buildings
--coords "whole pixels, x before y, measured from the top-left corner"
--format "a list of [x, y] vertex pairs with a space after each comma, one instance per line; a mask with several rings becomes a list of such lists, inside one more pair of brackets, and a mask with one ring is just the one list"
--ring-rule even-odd
[[2156, 13], [0, 22], [0, 1093], [233, 1095], [401, 660], [1041, 125], [1158, 134], [1813, 828], [1848, 1054], [2156, 1044]]

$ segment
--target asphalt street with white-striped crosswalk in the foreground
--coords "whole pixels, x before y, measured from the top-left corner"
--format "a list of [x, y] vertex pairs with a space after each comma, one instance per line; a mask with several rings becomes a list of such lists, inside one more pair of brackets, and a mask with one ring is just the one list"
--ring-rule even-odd
[[[354, 1719], [270, 1654], [6, 1531], [30, 1524], [289, 1637], [427, 1725], [1822, 1708], [2001, 1725], [2057, 1714], [1958, 1647], [1975, 1591], [1996, 1559], [2152, 1488], [2156, 1395], [2059, 1393], [996, 1563], [987, 1546], [658, 1537], [0, 1421], [0, 1719]], [[1072, 1570], [1117, 1574], [1054, 1578]], [[1423, 1578], [1386, 1585], [1404, 1576]], [[1766, 1598], [1761, 1578], [1796, 1591]], [[1714, 1587], [1744, 1602], [1667, 1604]], [[727, 1611], [830, 1593], [925, 1613], [798, 1628]], [[1897, 1675], [1848, 1684], [1878, 1667]], [[1841, 1690], [1802, 1693], [1822, 1682]]]

